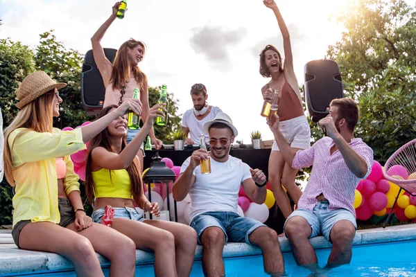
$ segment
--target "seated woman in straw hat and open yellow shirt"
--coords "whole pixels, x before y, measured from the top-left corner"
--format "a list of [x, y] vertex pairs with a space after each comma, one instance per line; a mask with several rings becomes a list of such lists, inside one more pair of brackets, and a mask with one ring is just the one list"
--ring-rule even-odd
[[[6, 129], [3, 154], [6, 179], [16, 188], [13, 239], [21, 249], [68, 258], [78, 276], [103, 276], [94, 249], [111, 261], [110, 276], [134, 276], [135, 244], [106, 226], [92, 224], [85, 215], [69, 154], [85, 149], [85, 142], [128, 109], [140, 114], [141, 103], [129, 99], [94, 123], [62, 132], [53, 128], [53, 116], [59, 116], [62, 102], [58, 89], [66, 85], [37, 71], [26, 76], [17, 91], [20, 111]], [[59, 157], [67, 168], [61, 185], [71, 203], [58, 200]]]

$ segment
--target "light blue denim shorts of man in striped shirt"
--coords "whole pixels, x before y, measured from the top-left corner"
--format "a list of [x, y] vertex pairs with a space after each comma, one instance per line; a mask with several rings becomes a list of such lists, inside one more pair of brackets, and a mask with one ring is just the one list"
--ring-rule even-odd
[[284, 222], [284, 224], [286, 226], [286, 223], [291, 219], [291, 217], [303, 217], [312, 229], [312, 233], [309, 238], [323, 235], [329, 242], [331, 242], [330, 235], [332, 227], [340, 220], [348, 220], [354, 225], [355, 229], [357, 229], [356, 217], [350, 211], [345, 210], [344, 208], [328, 211], [328, 206], [328, 201], [320, 201], [315, 205], [312, 212], [306, 210], [305, 208], [298, 208], [288, 216], [288, 219]]

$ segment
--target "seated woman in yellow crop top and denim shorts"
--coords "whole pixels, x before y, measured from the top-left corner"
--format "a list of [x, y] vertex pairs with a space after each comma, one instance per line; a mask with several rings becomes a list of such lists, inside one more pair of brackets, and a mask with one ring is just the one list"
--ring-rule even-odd
[[[114, 120], [89, 144], [85, 186], [89, 201], [93, 202], [94, 222], [107, 224], [131, 238], [137, 249], [155, 252], [155, 276], [189, 276], [196, 249], [196, 232], [185, 224], [163, 220], [145, 220], [135, 209], [159, 216], [159, 205], [150, 203], [144, 195], [138, 168], [139, 150], [157, 116], [161, 104], [149, 110], [148, 118], [139, 134], [126, 144], [127, 120]], [[115, 109], [105, 107], [98, 118]], [[163, 108], [164, 109], [164, 108]], [[166, 111], [166, 109], [165, 109]], [[109, 212], [111, 211], [111, 213]], [[114, 215], [114, 219], [111, 216]]]

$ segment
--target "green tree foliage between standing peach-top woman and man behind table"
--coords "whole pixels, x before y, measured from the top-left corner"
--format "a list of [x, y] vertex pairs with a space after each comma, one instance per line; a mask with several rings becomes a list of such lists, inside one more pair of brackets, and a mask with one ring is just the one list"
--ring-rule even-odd
[[[149, 105], [153, 107], [159, 100], [161, 87], [149, 87]], [[179, 100], [174, 98], [173, 93], [168, 91], [168, 124], [163, 126], [153, 126], [155, 129], [155, 135], [157, 139], [160, 139], [165, 144], [173, 143], [173, 132], [180, 129], [180, 121], [182, 120], [181, 115], [177, 115], [177, 105]]]

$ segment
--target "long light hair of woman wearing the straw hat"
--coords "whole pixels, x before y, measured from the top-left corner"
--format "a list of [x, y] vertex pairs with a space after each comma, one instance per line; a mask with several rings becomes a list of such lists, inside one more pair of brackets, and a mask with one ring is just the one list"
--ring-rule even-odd
[[[6, 128], [4, 132], [4, 173], [6, 180], [10, 186], [15, 186], [15, 178], [13, 177], [13, 161], [12, 152], [13, 144], [17, 137], [28, 131], [35, 131], [39, 133], [52, 132], [53, 128], [53, 98], [55, 98], [55, 89], [51, 89], [39, 96], [28, 105], [24, 106], [18, 113], [12, 123]], [[27, 128], [22, 130], [15, 136], [15, 139], [9, 144], [10, 134], [18, 128]]]

